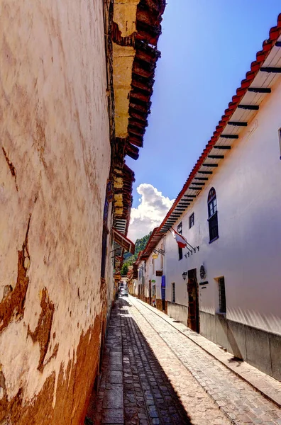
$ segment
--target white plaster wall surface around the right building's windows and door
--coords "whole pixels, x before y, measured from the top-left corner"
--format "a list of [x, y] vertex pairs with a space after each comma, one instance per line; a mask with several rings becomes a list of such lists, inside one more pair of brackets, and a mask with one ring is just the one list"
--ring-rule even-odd
[[[281, 334], [281, 80], [261, 104], [258, 115], [226, 154], [206, 187], [175, 224], [199, 252], [178, 261], [175, 239], [165, 237], [166, 299], [176, 285], [176, 302], [187, 305], [182, 272], [204, 264], [209, 285], [200, 288], [200, 310], [219, 306], [217, 283], [225, 277], [227, 317]], [[251, 132], [251, 130], [255, 130]], [[216, 189], [219, 239], [209, 244], [207, 196]], [[189, 215], [195, 224], [189, 229]], [[184, 249], [184, 253], [187, 249]]]

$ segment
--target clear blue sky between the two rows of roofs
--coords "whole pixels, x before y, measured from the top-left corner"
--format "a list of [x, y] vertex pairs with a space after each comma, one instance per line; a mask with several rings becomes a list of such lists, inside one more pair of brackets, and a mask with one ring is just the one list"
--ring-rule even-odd
[[143, 148], [126, 159], [133, 207], [142, 183], [177, 196], [280, 11], [280, 0], [168, 0]]

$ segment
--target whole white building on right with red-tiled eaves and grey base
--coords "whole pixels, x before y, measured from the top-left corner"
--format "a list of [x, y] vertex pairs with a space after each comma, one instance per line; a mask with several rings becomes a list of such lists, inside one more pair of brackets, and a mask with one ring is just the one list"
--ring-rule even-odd
[[[276, 28], [157, 229], [158, 246], [165, 250], [165, 278], [157, 281], [157, 291], [162, 301], [165, 285], [171, 317], [281, 380], [281, 37]], [[187, 239], [182, 251], [171, 229]]]

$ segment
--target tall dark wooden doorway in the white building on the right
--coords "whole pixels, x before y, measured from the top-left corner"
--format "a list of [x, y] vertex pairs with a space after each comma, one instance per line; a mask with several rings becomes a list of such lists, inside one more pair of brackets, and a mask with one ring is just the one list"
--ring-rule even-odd
[[199, 294], [198, 294], [198, 283], [197, 283], [197, 271], [196, 268], [188, 271], [188, 317], [187, 326], [199, 334], [200, 322], [199, 322]]

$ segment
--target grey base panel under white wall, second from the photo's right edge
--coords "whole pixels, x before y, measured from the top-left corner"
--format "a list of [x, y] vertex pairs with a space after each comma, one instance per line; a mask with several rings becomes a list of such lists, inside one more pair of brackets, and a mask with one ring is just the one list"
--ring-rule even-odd
[[269, 335], [253, 327], [245, 327], [247, 361], [272, 376]]

